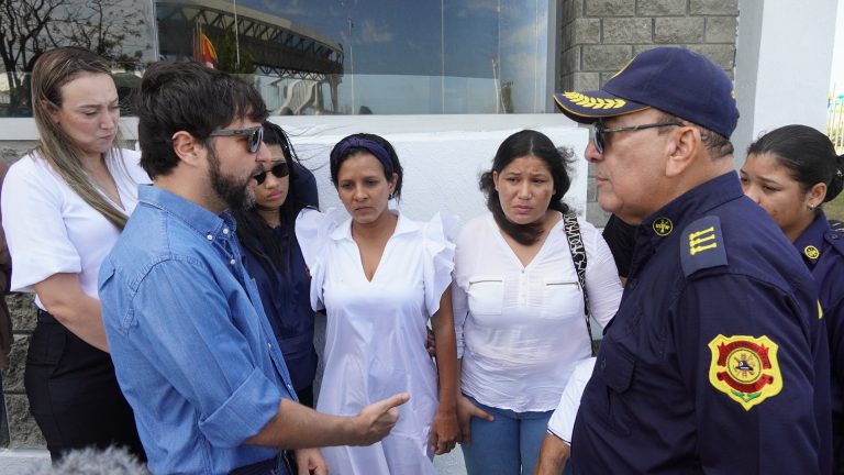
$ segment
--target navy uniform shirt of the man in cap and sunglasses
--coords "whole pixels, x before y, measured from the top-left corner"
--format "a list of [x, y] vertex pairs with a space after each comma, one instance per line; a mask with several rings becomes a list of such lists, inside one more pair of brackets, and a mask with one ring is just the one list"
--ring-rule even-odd
[[825, 339], [811, 275], [736, 175], [686, 192], [636, 230], [574, 472], [829, 473]]

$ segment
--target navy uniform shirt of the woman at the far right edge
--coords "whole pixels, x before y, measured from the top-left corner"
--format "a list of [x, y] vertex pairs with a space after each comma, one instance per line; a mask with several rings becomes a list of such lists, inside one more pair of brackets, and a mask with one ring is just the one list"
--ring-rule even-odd
[[795, 241], [818, 283], [832, 361], [832, 421], [835, 473], [844, 473], [844, 233], [833, 231], [823, 212]]

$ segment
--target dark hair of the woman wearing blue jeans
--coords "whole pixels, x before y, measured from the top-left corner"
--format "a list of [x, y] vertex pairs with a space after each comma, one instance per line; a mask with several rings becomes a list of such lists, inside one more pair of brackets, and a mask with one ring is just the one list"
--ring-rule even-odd
[[507, 219], [492, 180], [492, 173], [501, 174], [501, 170], [510, 165], [511, 162], [529, 155], [535, 156], [545, 163], [551, 178], [554, 180], [554, 195], [551, 197], [548, 209], [562, 213], [568, 212], [568, 205], [563, 202], [563, 197], [571, 186], [571, 177], [568, 176], [568, 173], [575, 154], [569, 148], [556, 147], [554, 142], [542, 132], [523, 130], [504, 139], [498, 147], [496, 157], [492, 158], [492, 169], [484, 173], [480, 176], [479, 183], [480, 190], [487, 196], [487, 208], [492, 212], [498, 227], [517, 242], [524, 245], [533, 244], [540, 239], [543, 232], [543, 224], [518, 224]]

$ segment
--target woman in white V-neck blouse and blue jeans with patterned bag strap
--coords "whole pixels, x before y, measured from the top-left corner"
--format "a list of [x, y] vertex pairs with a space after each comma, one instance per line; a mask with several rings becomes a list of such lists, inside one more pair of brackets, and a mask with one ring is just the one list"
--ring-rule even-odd
[[[509, 136], [480, 177], [490, 212], [457, 238], [458, 417], [469, 475], [533, 473], [568, 377], [591, 354], [564, 229], [570, 158], [540, 132]], [[603, 325], [622, 292], [612, 254], [595, 227], [567, 220], [579, 224], [589, 308]]]

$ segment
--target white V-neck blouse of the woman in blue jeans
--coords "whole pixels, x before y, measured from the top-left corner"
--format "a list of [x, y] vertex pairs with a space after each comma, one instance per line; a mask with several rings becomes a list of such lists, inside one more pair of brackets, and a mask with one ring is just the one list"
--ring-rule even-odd
[[[622, 287], [610, 248], [578, 219], [592, 317], [606, 325]], [[577, 362], [591, 355], [584, 296], [560, 220], [523, 266], [491, 213], [457, 238], [453, 288], [460, 386], [479, 402], [517, 412], [549, 411]]]

